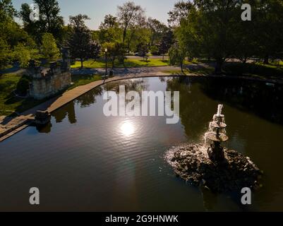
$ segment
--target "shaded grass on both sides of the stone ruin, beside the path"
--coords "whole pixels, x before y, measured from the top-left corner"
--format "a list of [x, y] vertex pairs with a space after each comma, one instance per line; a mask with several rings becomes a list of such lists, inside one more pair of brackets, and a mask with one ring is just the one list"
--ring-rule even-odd
[[[23, 99], [16, 97], [13, 90], [16, 90], [18, 81], [21, 76], [13, 73], [8, 73], [0, 76], [0, 115], [16, 116], [14, 112], [24, 112], [40, 103], [48, 100], [34, 100], [32, 98]], [[68, 87], [71, 90], [79, 85], [85, 85], [93, 81], [100, 80], [101, 76], [97, 75], [79, 75], [72, 76], [73, 85]]]

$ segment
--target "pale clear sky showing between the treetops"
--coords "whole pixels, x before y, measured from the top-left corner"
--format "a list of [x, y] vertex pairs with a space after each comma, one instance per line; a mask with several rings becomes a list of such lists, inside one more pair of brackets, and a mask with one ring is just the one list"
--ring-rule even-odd
[[[178, 0], [131, 0], [145, 9], [147, 17], [156, 18], [167, 24], [168, 12], [174, 8]], [[117, 6], [122, 5], [126, 0], [59, 0], [61, 16], [65, 23], [68, 23], [68, 16], [76, 16], [79, 13], [88, 15], [91, 20], [87, 21], [90, 29], [99, 27], [104, 16], [112, 14], [116, 16]], [[23, 3], [32, 4], [32, 0], [12, 0], [16, 10], [20, 10]]]

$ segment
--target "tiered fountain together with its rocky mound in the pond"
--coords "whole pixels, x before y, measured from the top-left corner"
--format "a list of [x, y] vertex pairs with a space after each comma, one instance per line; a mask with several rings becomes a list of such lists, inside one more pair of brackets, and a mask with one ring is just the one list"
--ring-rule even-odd
[[249, 157], [223, 146], [229, 138], [222, 108], [218, 106], [203, 143], [172, 147], [165, 160], [176, 177], [215, 193], [257, 189], [262, 186], [259, 180], [263, 172]]

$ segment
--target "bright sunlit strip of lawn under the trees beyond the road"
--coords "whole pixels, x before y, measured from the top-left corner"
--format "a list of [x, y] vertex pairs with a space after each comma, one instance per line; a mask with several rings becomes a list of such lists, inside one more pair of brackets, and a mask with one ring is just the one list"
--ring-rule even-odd
[[[192, 64], [189, 61], [185, 61], [185, 64]], [[123, 64], [119, 64], [119, 61], [115, 61], [114, 63], [116, 68], [123, 68]], [[168, 66], [169, 60], [168, 59], [148, 59], [144, 61], [142, 58], [129, 58], [125, 60], [126, 67], [141, 67], [141, 66]], [[97, 59], [97, 61], [90, 59], [88, 61], [83, 62], [83, 66], [85, 68], [90, 69], [100, 69], [105, 67], [105, 62], [103, 59]], [[112, 62], [108, 62], [108, 66], [112, 66]], [[75, 64], [71, 65], [72, 69], [79, 69], [80, 68], [80, 61], [76, 61]]]

